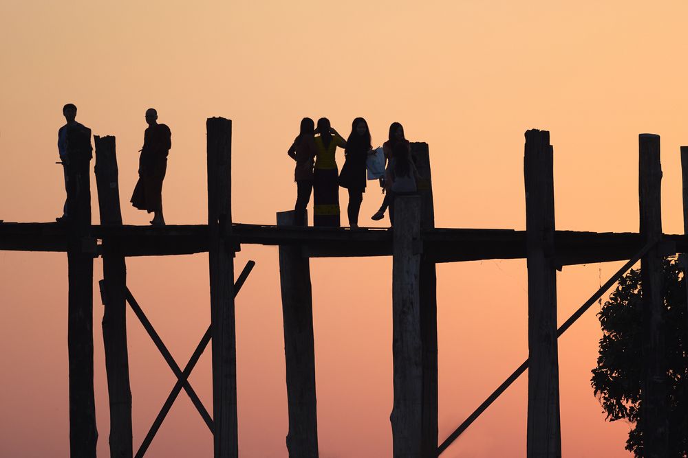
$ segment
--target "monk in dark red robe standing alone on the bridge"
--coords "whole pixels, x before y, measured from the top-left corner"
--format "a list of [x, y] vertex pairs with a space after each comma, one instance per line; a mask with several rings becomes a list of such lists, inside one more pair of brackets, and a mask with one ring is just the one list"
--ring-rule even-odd
[[138, 161], [138, 182], [131, 196], [131, 203], [140, 210], [153, 213], [151, 224], [163, 226], [162, 181], [167, 170], [167, 154], [172, 147], [172, 133], [165, 124], [158, 124], [155, 108], [146, 110], [148, 128], [143, 135], [143, 148]]

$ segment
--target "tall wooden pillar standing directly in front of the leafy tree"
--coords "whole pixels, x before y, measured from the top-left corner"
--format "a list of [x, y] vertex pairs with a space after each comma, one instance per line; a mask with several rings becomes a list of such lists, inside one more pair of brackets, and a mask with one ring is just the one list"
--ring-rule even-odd
[[[659, 135], [641, 134], [639, 194], [641, 237], [645, 241], [662, 236], [662, 165]], [[645, 457], [668, 456], [667, 359], [662, 295], [662, 255], [657, 246], [641, 259], [643, 294], [643, 446]]]

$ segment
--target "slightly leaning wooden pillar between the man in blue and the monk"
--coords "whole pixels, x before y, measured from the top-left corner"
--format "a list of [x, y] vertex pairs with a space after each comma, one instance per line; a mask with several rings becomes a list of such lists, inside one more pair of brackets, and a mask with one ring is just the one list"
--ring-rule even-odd
[[[121, 226], [115, 137], [94, 137], [100, 225]], [[103, 346], [110, 407], [110, 456], [131, 457], [131, 387], [127, 352], [127, 265], [116, 240], [103, 239]]]

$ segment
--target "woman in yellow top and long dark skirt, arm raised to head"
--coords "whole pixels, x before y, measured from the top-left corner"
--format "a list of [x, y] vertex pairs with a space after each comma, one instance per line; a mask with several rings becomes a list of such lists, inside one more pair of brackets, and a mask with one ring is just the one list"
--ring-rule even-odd
[[315, 170], [313, 173], [313, 225], [339, 227], [339, 183], [334, 153], [346, 141], [330, 126], [330, 119], [318, 119], [315, 137]]

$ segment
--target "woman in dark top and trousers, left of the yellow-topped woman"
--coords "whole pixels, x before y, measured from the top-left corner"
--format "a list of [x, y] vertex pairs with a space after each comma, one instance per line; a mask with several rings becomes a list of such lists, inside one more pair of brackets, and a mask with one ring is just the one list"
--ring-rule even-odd
[[305, 209], [313, 191], [313, 164], [315, 143], [313, 139], [315, 123], [310, 117], [301, 119], [299, 135], [289, 147], [287, 154], [296, 161], [294, 181], [297, 183], [297, 203], [294, 205], [294, 225], [308, 226]]

